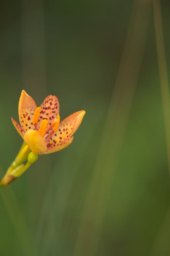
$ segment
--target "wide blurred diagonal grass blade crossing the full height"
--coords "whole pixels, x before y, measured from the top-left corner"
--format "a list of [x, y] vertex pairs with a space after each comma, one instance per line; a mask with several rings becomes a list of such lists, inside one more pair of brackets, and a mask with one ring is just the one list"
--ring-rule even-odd
[[149, 11], [150, 1], [134, 1], [134, 9], [78, 231], [74, 256], [97, 254], [113, 177], [145, 49]]

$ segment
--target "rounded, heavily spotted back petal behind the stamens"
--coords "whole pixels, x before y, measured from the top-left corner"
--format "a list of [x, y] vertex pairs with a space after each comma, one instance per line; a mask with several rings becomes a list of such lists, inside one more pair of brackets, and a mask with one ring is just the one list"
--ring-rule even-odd
[[47, 128], [48, 128], [54, 121], [54, 118], [57, 117], [57, 114], [59, 114], [59, 111], [60, 111], [59, 101], [56, 96], [48, 95], [40, 107], [41, 107], [40, 116], [39, 116], [40, 122], [37, 123], [37, 129], [39, 129], [40, 123], [43, 119], [47, 119], [48, 121]]

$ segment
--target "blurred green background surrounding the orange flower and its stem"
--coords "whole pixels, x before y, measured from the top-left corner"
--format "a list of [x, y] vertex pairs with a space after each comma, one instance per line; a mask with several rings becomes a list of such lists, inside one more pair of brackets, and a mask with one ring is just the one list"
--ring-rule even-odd
[[[170, 74], [170, 2], [162, 18]], [[3, 1], [0, 175], [21, 146], [21, 90], [53, 94], [72, 144], [0, 189], [0, 255], [168, 256], [170, 183], [149, 0]]]

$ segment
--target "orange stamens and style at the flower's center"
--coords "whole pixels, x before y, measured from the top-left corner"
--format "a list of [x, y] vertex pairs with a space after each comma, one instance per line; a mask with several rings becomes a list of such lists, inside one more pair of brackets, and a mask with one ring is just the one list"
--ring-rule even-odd
[[[41, 111], [41, 107], [37, 107], [35, 109], [35, 112], [34, 112], [32, 123], [35, 125], [35, 131], [37, 131], [37, 122], [39, 120], [40, 111]], [[44, 136], [53, 128], [52, 132], [45, 139], [46, 143], [49, 141], [49, 139], [51, 138], [53, 133], [56, 133], [56, 131], [58, 130], [59, 124], [60, 124], [60, 116], [58, 114], [57, 114], [57, 117], [54, 119], [54, 121], [52, 122], [52, 124], [49, 126], [48, 129], [47, 129], [47, 126], [48, 126], [47, 119], [43, 119], [41, 121], [41, 124], [39, 126], [39, 130], [38, 130], [38, 133], [41, 135], [41, 137], [44, 138]]]

